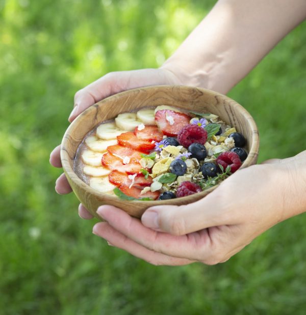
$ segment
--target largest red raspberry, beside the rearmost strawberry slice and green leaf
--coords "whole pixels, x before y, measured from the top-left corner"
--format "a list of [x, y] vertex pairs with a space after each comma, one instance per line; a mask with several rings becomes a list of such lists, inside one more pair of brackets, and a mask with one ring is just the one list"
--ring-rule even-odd
[[194, 142], [204, 145], [207, 140], [207, 131], [197, 125], [188, 125], [179, 132], [177, 140], [185, 148], [188, 148]]

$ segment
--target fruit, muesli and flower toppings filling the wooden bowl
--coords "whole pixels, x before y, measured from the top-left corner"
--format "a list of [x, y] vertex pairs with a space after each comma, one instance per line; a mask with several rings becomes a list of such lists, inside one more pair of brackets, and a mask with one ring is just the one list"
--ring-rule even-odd
[[111, 141], [106, 153], [100, 152], [100, 165], [94, 166], [103, 175], [92, 176], [95, 169], [91, 169], [89, 184], [126, 200], [163, 200], [201, 192], [233, 174], [247, 157], [244, 136], [211, 113], [163, 105], [119, 114], [113, 124], [115, 131], [107, 133], [108, 139], [99, 132], [107, 130], [101, 124], [91, 136], [94, 141], [85, 140], [89, 148], [82, 159], [86, 164], [88, 150]]

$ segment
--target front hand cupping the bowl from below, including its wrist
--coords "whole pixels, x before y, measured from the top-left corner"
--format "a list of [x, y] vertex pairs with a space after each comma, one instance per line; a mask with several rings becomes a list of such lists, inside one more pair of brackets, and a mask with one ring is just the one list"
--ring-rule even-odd
[[[241, 169], [201, 200], [151, 207], [141, 221], [101, 206], [97, 213], [106, 222], [93, 233], [154, 265], [225, 262], [274, 224], [305, 211], [305, 156]], [[83, 206], [80, 215], [87, 215]]]

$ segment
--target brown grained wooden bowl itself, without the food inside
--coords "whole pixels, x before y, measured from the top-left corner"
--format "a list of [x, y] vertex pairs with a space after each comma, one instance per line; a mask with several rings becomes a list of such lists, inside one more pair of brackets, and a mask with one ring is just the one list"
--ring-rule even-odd
[[186, 205], [212, 192], [217, 186], [190, 196], [164, 201], [123, 201], [117, 196], [100, 193], [85, 184], [73, 171], [73, 160], [78, 146], [86, 134], [101, 122], [115, 118], [119, 113], [147, 106], [171, 105], [197, 112], [218, 115], [226, 124], [241, 132], [249, 152], [240, 168], [256, 164], [259, 150], [259, 133], [251, 115], [237, 102], [222, 94], [193, 87], [162, 85], [139, 88], [108, 97], [86, 109], [67, 129], [61, 145], [61, 160], [70, 186], [79, 201], [99, 218], [96, 210], [101, 205], [113, 205], [134, 217], [154, 205]]

